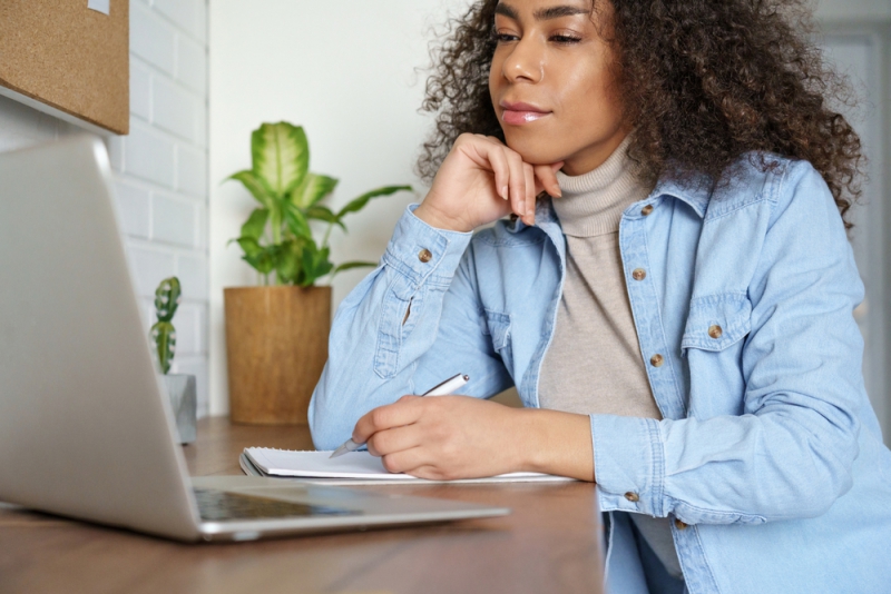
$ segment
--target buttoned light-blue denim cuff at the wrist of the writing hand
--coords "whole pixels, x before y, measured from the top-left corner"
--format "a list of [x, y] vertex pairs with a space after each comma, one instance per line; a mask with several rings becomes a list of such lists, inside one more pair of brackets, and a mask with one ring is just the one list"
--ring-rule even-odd
[[594, 473], [603, 512], [664, 517], [665, 452], [655, 418], [590, 415]]

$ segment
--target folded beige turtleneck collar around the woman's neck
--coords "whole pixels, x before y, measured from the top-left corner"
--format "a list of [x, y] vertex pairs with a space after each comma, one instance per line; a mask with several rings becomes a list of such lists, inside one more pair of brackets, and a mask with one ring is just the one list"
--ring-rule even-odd
[[551, 204], [565, 235], [594, 237], [616, 232], [623, 211], [649, 196], [640, 182], [638, 167], [628, 158], [628, 135], [599, 167], [580, 176], [557, 171], [562, 198]]

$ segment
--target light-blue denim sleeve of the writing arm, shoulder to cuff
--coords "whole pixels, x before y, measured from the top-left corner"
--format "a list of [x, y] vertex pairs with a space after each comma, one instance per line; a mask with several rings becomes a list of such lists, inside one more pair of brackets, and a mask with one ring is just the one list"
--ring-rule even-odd
[[[748, 284], [740, 414], [593, 415], [605, 509], [757, 524], [821, 515], [851, 488], [868, 402], [852, 315], [863, 285], [820, 174], [794, 164], [776, 196]], [[713, 356], [699, 355], [701, 364]], [[708, 376], [694, 365], [692, 375]], [[730, 397], [719, 382], [711, 389]]]

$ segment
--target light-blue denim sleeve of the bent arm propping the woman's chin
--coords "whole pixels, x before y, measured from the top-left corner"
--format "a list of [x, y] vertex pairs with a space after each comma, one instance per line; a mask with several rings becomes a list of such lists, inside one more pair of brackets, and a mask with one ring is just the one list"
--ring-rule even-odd
[[334, 316], [329, 360], [309, 412], [320, 449], [340, 446], [369, 410], [458, 373], [471, 377], [461, 394], [490, 396], [500, 387], [491, 378], [503, 365], [492, 356], [468, 273], [472, 235], [427, 225], [414, 216], [417, 206], [407, 208], [380, 266]]

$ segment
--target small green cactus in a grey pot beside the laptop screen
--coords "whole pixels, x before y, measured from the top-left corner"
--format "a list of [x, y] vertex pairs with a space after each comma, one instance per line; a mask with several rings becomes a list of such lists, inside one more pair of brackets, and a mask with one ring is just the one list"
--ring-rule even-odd
[[150, 337], [161, 374], [161, 386], [167, 393], [176, 419], [179, 443], [190, 444], [196, 436], [198, 409], [195, 376], [169, 373], [176, 355], [176, 328], [173, 320], [182, 295], [179, 279], [175, 276], [160, 281], [155, 290], [155, 314], [158, 320], [151, 326]]

